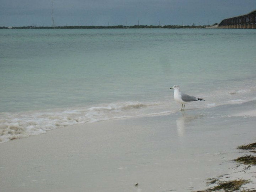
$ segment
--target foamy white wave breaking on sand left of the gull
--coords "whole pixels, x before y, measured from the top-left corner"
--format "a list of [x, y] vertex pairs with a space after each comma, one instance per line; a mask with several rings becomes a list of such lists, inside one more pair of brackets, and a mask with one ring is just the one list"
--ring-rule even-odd
[[78, 123], [148, 115], [151, 108], [157, 105], [154, 102], [120, 102], [90, 108], [4, 112], [0, 113], [0, 143]]

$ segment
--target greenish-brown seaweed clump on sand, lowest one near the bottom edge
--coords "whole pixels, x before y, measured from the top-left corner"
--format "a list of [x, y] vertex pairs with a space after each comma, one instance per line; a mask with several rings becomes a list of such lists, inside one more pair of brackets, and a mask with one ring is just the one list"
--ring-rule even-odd
[[[216, 182], [217, 180], [215, 180]], [[214, 182], [214, 183], [215, 183]], [[211, 187], [204, 191], [197, 191], [197, 192], [212, 192], [212, 191], [225, 191], [225, 192], [233, 192], [240, 189], [240, 187], [246, 183], [249, 183], [248, 180], [232, 180], [232, 181], [218, 181], [217, 186]], [[251, 191], [248, 191], [251, 192]]]

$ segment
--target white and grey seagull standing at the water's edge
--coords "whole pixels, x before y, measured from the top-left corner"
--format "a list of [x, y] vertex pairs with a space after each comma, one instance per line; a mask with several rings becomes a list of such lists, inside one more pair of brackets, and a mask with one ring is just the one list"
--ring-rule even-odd
[[[171, 89], [174, 89], [174, 100], [181, 105], [181, 111], [185, 110], [185, 103], [192, 102], [192, 101], [205, 101], [202, 98], [197, 98], [194, 96], [186, 95], [180, 92], [180, 86], [174, 85]], [[183, 107], [184, 106], [184, 107]]]

